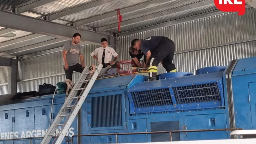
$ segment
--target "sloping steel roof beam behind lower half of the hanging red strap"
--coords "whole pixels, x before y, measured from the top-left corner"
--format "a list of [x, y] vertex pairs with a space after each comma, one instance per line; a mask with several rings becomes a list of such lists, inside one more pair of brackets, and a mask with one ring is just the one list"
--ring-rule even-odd
[[[121, 22], [121, 27], [136, 24], [136, 23], [140, 23], [142, 21], [153, 20], [155, 18], [165, 17], [166, 15], [171, 15], [171, 14], [175, 14], [175, 13], [189, 11], [189, 10], [192, 10], [192, 9], [205, 7], [205, 6], [209, 6], [209, 5], [214, 5], [214, 1], [213, 0], [205, 0], [205, 1], [202, 1], [202, 2], [197, 2], [197, 3], [186, 5], [186, 6], [183, 6], [183, 7], [170, 9], [168, 11], [163, 11], [163, 12], [159, 12], [159, 13], [146, 15], [146, 16], [140, 17], [140, 18], [126, 20], [126, 21]], [[107, 26], [103, 26], [103, 27], [99, 27], [99, 28], [97, 28], [97, 32], [108, 31], [108, 30], [112, 30], [112, 29], [115, 29], [115, 28], [118, 28], [117, 23], [107, 25]]]

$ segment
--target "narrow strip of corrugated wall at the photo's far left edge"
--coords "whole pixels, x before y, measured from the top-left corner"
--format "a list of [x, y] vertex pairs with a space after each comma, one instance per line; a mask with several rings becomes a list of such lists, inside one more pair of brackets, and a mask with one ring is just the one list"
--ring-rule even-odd
[[8, 67], [0, 66], [0, 95], [8, 94]]

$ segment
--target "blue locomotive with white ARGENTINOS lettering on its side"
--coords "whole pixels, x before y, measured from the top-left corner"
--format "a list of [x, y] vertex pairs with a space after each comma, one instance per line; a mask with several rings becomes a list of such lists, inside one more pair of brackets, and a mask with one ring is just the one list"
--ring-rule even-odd
[[[196, 74], [159, 74], [146, 81], [141, 73], [98, 79], [66, 136], [73, 143], [141, 143], [230, 139], [230, 131], [115, 135], [242, 128], [256, 129], [256, 57], [228, 66], [198, 69]], [[0, 143], [40, 144], [65, 100], [64, 94], [33, 97], [0, 106]], [[60, 129], [57, 130], [57, 132]], [[104, 136], [76, 136], [104, 134]], [[14, 140], [6, 140], [12, 139]], [[20, 138], [16, 139], [15, 138]], [[23, 138], [23, 139], [21, 139]], [[26, 139], [25, 139], [26, 138]], [[66, 138], [63, 140], [65, 144]]]

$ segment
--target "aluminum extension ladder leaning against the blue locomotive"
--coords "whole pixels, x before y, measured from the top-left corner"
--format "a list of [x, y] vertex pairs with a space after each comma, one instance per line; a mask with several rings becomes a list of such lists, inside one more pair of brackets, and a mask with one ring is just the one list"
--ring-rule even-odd
[[[81, 73], [80, 77], [78, 78], [76, 84], [73, 86], [71, 92], [69, 93], [68, 97], [66, 98], [57, 117], [55, 118], [52, 125], [48, 129], [46, 135], [44, 136], [41, 144], [49, 144], [49, 142], [53, 136], [56, 136], [56, 138], [53, 140], [53, 143], [61, 144], [66, 133], [68, 132], [68, 129], [70, 128], [70, 125], [72, 124], [72, 122], [75, 119], [79, 109], [81, 108], [85, 98], [87, 97], [92, 85], [94, 84], [96, 78], [98, 77], [98, 74], [100, 73], [100, 71], [102, 69], [102, 66], [103, 66], [102, 64], [98, 65], [98, 67], [95, 70], [92, 77], [90, 77], [91, 74], [93, 73], [93, 72], [90, 72], [92, 70], [92, 67], [84, 68], [84, 70]], [[80, 88], [82, 86], [82, 83], [85, 83], [84, 88]], [[76, 94], [79, 90], [84, 90], [84, 91], [82, 91], [81, 92], [82, 94], [77, 97]], [[73, 102], [74, 99], [76, 99], [76, 102], [74, 105], [71, 105], [71, 103]], [[72, 108], [72, 110], [68, 114], [68, 109], [70, 109], [70, 108]], [[60, 122], [64, 119], [64, 117], [66, 117], [64, 124], [60, 124]], [[56, 133], [58, 126], [62, 126], [62, 129], [60, 130], [59, 133]]]

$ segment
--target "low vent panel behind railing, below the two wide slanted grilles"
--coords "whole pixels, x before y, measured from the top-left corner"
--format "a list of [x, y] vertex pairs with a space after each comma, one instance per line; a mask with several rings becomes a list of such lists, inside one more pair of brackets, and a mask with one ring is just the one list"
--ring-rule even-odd
[[[179, 121], [151, 122], [151, 131], [174, 131], [180, 130]], [[151, 142], [169, 142], [169, 133], [151, 134]], [[172, 133], [172, 141], [180, 141], [180, 133]]]

